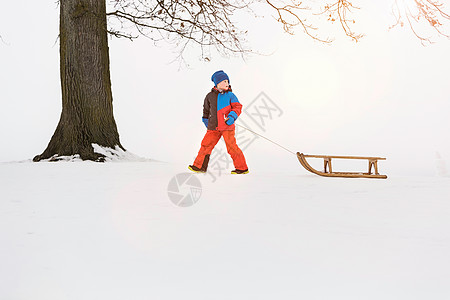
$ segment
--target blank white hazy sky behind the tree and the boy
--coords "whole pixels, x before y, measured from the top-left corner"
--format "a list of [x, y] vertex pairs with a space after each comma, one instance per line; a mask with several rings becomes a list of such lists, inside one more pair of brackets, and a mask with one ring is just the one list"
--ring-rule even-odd
[[[366, 34], [358, 44], [338, 33], [332, 45], [323, 45], [300, 31], [283, 34], [271, 17], [242, 19], [250, 45], [273, 52], [245, 62], [213, 57], [204, 63], [191, 50], [190, 68], [180, 70], [170, 64], [175, 55], [164, 44], [110, 40], [122, 144], [140, 156], [192, 163], [205, 130], [201, 114], [210, 76], [223, 69], [244, 108], [263, 91], [283, 110], [261, 133], [285, 147], [386, 156], [387, 172], [433, 175], [436, 152], [450, 159], [450, 42], [436, 39], [423, 47], [406, 28], [388, 31], [389, 0], [367, 2], [355, 2], [362, 8], [355, 29]], [[58, 123], [58, 13], [53, 1], [2, 6], [0, 161], [40, 154]], [[291, 154], [263, 140], [245, 152], [250, 168], [301, 168]]]

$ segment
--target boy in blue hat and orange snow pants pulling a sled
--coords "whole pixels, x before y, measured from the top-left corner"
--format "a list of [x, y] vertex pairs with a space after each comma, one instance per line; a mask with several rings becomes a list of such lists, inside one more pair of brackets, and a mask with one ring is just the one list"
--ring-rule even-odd
[[237, 146], [234, 137], [234, 121], [241, 114], [242, 104], [231, 91], [230, 79], [224, 71], [215, 72], [211, 80], [214, 82], [214, 87], [206, 95], [203, 104], [202, 121], [205, 123], [207, 131], [197, 158], [194, 164], [189, 166], [189, 170], [205, 173], [208, 168], [209, 156], [220, 137], [223, 136], [228, 154], [233, 159], [235, 167], [231, 174], [247, 174], [248, 167], [244, 154]]

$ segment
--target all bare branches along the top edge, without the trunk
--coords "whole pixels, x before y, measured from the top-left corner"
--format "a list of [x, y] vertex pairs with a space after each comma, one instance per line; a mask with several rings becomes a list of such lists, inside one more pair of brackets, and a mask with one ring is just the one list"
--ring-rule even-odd
[[[391, 28], [408, 24], [422, 43], [430, 42], [430, 38], [424, 37], [416, 28], [422, 22], [440, 36], [450, 38], [442, 30], [444, 21], [449, 21], [450, 16], [439, 0], [408, 0], [415, 4], [414, 13], [398, 5], [399, 1], [405, 0], [394, 1], [393, 14], [397, 22]], [[356, 21], [351, 15], [359, 9], [352, 2], [327, 0], [314, 13], [301, 0], [109, 0], [107, 30], [119, 38], [134, 40], [145, 36], [155, 43], [169, 42], [178, 49], [180, 59], [190, 44], [197, 45], [201, 58], [208, 60], [211, 49], [225, 56], [251, 53], [246, 46], [247, 32], [235, 26], [233, 17], [241, 10], [257, 16], [251, 8], [256, 3], [267, 4], [288, 34], [294, 34], [295, 29], [300, 28], [316, 41], [331, 43], [331, 39], [317, 34], [318, 28], [311, 22], [312, 16], [326, 16], [329, 22], [336, 22], [346, 36], [358, 42], [364, 35], [355, 33], [352, 28]]]

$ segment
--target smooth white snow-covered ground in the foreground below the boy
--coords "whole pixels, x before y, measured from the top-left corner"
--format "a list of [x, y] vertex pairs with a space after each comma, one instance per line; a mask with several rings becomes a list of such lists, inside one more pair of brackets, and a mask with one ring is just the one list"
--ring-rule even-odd
[[185, 172], [1, 163], [0, 299], [450, 299], [448, 177]]

